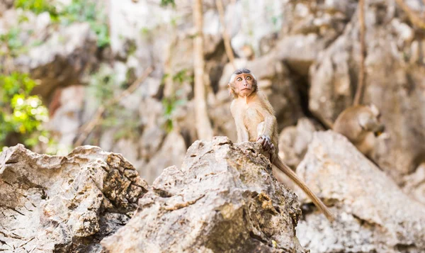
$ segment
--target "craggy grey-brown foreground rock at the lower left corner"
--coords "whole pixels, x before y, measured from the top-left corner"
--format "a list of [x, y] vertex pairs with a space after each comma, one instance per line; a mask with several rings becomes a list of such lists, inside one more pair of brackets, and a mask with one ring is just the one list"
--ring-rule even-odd
[[16, 145], [0, 155], [1, 252], [101, 252], [147, 183], [120, 154], [78, 147], [66, 157]]

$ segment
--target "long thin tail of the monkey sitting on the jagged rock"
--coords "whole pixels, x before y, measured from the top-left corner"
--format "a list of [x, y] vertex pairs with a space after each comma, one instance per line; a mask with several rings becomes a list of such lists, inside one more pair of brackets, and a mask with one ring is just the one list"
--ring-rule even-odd
[[276, 159], [274, 159], [273, 164], [278, 167], [278, 169], [280, 169], [283, 173], [285, 173], [287, 176], [290, 177], [290, 179], [292, 179], [295, 184], [297, 184], [297, 186], [300, 186], [300, 188], [302, 189], [302, 191], [304, 191], [313, 201], [314, 205], [317, 206], [317, 208], [319, 208], [319, 210], [321, 210], [324, 215], [326, 216], [326, 218], [329, 221], [334, 221], [334, 215], [332, 215], [331, 211], [329, 210], [329, 208], [327, 208], [327, 206], [324, 205], [324, 203], [317, 198], [316, 194], [314, 194], [307, 186], [307, 184], [304, 183], [304, 181], [302, 181], [297, 174], [295, 174], [295, 172], [293, 172], [292, 169], [290, 169], [290, 167], [288, 167], [288, 165], [286, 165], [285, 163], [283, 163], [282, 161], [280, 161], [280, 159], [278, 157], [276, 157]]

